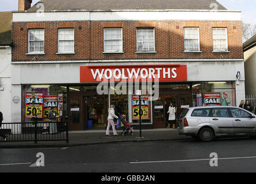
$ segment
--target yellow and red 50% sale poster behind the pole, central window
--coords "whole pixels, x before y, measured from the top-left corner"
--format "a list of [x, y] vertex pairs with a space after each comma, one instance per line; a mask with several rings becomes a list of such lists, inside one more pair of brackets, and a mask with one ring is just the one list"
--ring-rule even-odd
[[[149, 119], [149, 95], [141, 95], [140, 109], [142, 120]], [[132, 95], [132, 119], [139, 120], [139, 95]]]

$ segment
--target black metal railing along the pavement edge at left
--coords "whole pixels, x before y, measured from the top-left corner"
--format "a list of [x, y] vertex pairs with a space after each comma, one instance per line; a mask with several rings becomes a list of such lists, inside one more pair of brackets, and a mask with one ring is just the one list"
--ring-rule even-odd
[[[46, 121], [43, 121], [46, 120]], [[68, 143], [68, 121], [66, 118], [34, 118], [32, 122], [3, 122], [1, 135], [6, 141], [66, 141]], [[0, 142], [5, 141], [0, 137]]]

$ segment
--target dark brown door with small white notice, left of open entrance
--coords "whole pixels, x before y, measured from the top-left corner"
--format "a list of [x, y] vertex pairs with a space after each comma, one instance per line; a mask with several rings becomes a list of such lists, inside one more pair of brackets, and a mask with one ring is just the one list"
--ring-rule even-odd
[[81, 97], [69, 97], [69, 130], [70, 131], [81, 131], [83, 129], [82, 105]]

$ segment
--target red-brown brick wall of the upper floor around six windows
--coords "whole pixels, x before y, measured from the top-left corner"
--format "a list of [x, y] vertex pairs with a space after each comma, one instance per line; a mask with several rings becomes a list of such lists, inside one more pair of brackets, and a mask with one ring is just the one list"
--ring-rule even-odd
[[[155, 28], [155, 51], [136, 52], [136, 27]], [[199, 27], [202, 53], [184, 53], [184, 27]], [[75, 54], [57, 55], [58, 28], [75, 28]], [[123, 28], [124, 53], [103, 52], [103, 28]], [[212, 28], [228, 31], [228, 51], [213, 53]], [[45, 55], [28, 53], [28, 29], [44, 28]], [[104, 59], [243, 59], [242, 23], [240, 21], [75, 21], [13, 22], [13, 61], [34, 60], [104, 60]]]

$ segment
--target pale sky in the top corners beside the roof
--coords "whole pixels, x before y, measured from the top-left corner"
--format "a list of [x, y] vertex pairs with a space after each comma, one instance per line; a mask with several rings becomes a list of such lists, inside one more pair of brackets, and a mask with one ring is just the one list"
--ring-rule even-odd
[[[33, 0], [34, 5], [39, 0]], [[129, 0], [127, 0], [129, 1]], [[139, 0], [138, 0], [139, 1]], [[241, 10], [242, 21], [256, 24], [256, 0], [217, 0], [228, 10]], [[54, 2], [54, 1], [53, 1]], [[18, 0], [0, 0], [0, 11], [13, 11], [18, 9]]]

